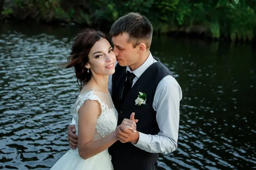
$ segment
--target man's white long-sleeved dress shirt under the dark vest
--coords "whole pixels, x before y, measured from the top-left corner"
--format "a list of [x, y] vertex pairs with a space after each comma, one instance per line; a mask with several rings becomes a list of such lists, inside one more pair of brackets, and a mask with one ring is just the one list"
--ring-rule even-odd
[[[150, 53], [148, 59], [136, 70], [131, 71], [129, 66], [126, 67], [126, 71], [133, 72], [136, 76], [133, 79], [132, 86], [154, 62], [157, 62], [157, 60]], [[112, 75], [108, 79], [108, 91], [112, 95]], [[157, 112], [156, 119], [160, 132], [157, 135], [139, 132], [139, 141], [134, 146], [150, 153], [171, 153], [176, 150], [181, 99], [182, 91], [175, 78], [171, 75], [164, 77], [157, 85], [152, 105], [154, 111]], [[74, 119], [72, 119], [71, 125], [75, 125]]]

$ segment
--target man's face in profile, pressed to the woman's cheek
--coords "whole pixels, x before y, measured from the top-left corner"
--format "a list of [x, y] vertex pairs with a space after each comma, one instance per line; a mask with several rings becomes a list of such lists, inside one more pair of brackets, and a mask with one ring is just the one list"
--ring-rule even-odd
[[133, 43], [128, 42], [129, 35], [126, 33], [119, 34], [112, 38], [114, 45], [114, 53], [116, 54], [116, 61], [121, 66], [133, 65], [137, 62], [138, 48], [133, 48]]

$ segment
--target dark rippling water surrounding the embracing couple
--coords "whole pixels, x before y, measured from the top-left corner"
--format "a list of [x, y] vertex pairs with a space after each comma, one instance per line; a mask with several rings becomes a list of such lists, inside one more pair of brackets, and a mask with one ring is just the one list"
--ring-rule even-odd
[[[66, 61], [76, 27], [0, 26], [0, 169], [47, 170], [69, 149], [78, 95]], [[253, 45], [154, 37], [183, 90], [178, 149], [159, 170], [256, 169]]]

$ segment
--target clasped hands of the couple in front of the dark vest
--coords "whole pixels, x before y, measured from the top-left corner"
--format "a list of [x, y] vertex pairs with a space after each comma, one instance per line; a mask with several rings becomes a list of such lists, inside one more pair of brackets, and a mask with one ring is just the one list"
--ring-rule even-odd
[[130, 119], [124, 119], [116, 128], [116, 137], [122, 142], [132, 142], [136, 144], [139, 140], [139, 133], [136, 130], [137, 119], [134, 119], [135, 113], [131, 113]]

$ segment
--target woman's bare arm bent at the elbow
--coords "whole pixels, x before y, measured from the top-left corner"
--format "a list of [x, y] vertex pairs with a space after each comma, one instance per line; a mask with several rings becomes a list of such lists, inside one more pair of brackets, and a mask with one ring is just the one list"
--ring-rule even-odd
[[88, 159], [106, 150], [117, 141], [115, 131], [104, 138], [93, 141], [97, 119], [101, 113], [101, 105], [98, 101], [84, 101], [78, 113], [78, 150], [82, 159]]

